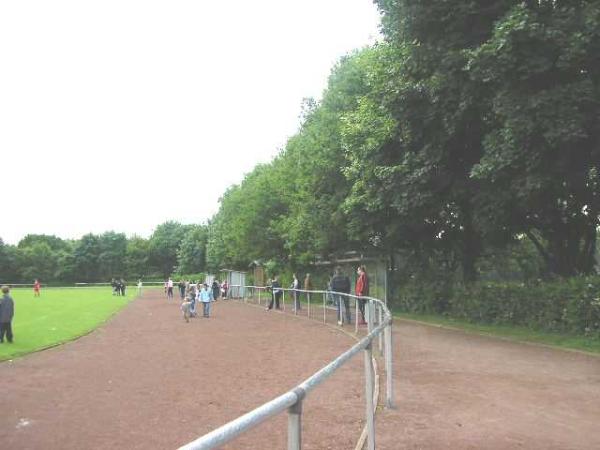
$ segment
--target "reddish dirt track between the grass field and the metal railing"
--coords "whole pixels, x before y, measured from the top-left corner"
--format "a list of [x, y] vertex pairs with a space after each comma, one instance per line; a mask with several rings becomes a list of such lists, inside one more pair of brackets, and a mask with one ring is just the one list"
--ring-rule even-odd
[[[186, 324], [178, 303], [150, 293], [88, 336], [0, 363], [1, 447], [173, 449], [287, 391], [353, 342], [318, 322], [230, 301]], [[361, 363], [305, 402], [305, 449], [353, 447]], [[230, 448], [284, 448], [286, 427], [281, 415]]]

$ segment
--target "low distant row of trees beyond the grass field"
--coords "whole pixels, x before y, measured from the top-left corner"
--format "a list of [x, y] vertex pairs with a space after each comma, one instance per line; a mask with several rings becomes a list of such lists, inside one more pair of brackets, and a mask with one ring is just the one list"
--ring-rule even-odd
[[17, 245], [0, 239], [0, 282], [107, 282], [111, 278], [163, 278], [206, 268], [206, 225], [165, 222], [148, 239], [108, 231], [81, 239], [25, 236]]

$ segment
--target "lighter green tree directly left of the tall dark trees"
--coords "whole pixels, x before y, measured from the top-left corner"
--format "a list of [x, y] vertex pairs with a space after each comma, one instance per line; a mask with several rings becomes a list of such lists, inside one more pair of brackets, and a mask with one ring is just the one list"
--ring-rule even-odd
[[289, 213], [278, 222], [292, 262], [309, 264], [317, 255], [330, 257], [369, 247], [347, 227], [344, 202], [350, 183], [341, 130], [368, 91], [365, 78], [373, 57], [364, 49], [343, 57], [333, 68], [320, 103], [308, 102], [300, 131], [286, 145], [281, 162], [287, 182], [284, 202]]

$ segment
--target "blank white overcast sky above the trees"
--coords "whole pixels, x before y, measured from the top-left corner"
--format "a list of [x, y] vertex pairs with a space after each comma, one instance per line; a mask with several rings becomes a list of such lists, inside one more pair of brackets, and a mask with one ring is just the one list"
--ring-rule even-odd
[[371, 0], [0, 2], [0, 237], [205, 221], [378, 23]]

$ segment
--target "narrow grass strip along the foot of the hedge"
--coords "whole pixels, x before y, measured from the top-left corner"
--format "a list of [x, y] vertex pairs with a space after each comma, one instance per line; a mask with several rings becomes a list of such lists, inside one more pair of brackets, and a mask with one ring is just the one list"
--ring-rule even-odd
[[435, 315], [407, 314], [394, 312], [399, 319], [415, 320], [448, 328], [455, 328], [468, 333], [485, 336], [495, 336], [519, 342], [551, 345], [563, 349], [579, 350], [600, 354], [600, 340], [584, 336], [574, 336], [559, 333], [531, 330], [525, 327], [509, 325], [482, 325]]

